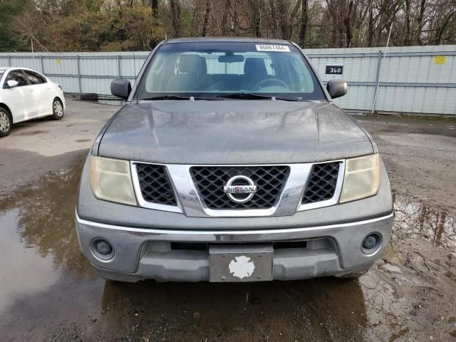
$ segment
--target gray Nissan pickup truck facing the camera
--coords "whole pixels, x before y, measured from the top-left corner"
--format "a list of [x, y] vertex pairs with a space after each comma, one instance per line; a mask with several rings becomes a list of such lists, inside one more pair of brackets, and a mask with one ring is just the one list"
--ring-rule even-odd
[[79, 243], [117, 281], [357, 276], [393, 224], [378, 148], [289, 41], [163, 41], [87, 157]]

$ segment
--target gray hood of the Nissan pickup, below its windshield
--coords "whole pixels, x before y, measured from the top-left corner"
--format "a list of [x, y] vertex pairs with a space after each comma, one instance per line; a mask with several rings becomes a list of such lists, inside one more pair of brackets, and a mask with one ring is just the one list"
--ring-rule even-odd
[[331, 103], [160, 100], [125, 105], [98, 155], [169, 164], [318, 162], [373, 153], [366, 133]]

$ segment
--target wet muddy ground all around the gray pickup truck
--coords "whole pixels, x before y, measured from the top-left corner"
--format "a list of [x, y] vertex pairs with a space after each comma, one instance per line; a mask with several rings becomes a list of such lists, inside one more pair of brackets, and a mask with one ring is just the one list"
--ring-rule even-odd
[[73, 224], [91, 141], [117, 108], [0, 140], [0, 341], [455, 341], [456, 121], [356, 117], [395, 194], [388, 252], [358, 280], [121, 284], [98, 279]]

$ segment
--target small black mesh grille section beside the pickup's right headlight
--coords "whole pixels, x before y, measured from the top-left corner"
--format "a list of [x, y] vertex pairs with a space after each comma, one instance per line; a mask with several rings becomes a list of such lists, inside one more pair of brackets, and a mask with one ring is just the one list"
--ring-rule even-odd
[[315, 164], [304, 191], [302, 204], [316, 203], [333, 198], [338, 172], [339, 162]]

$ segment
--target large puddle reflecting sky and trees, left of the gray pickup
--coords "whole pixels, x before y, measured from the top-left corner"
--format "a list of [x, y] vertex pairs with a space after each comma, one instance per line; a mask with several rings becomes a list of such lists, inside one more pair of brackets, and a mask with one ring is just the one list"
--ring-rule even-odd
[[0, 201], [2, 342], [46, 341], [59, 324], [99, 312], [104, 281], [73, 223], [80, 175], [81, 166], [51, 172]]

